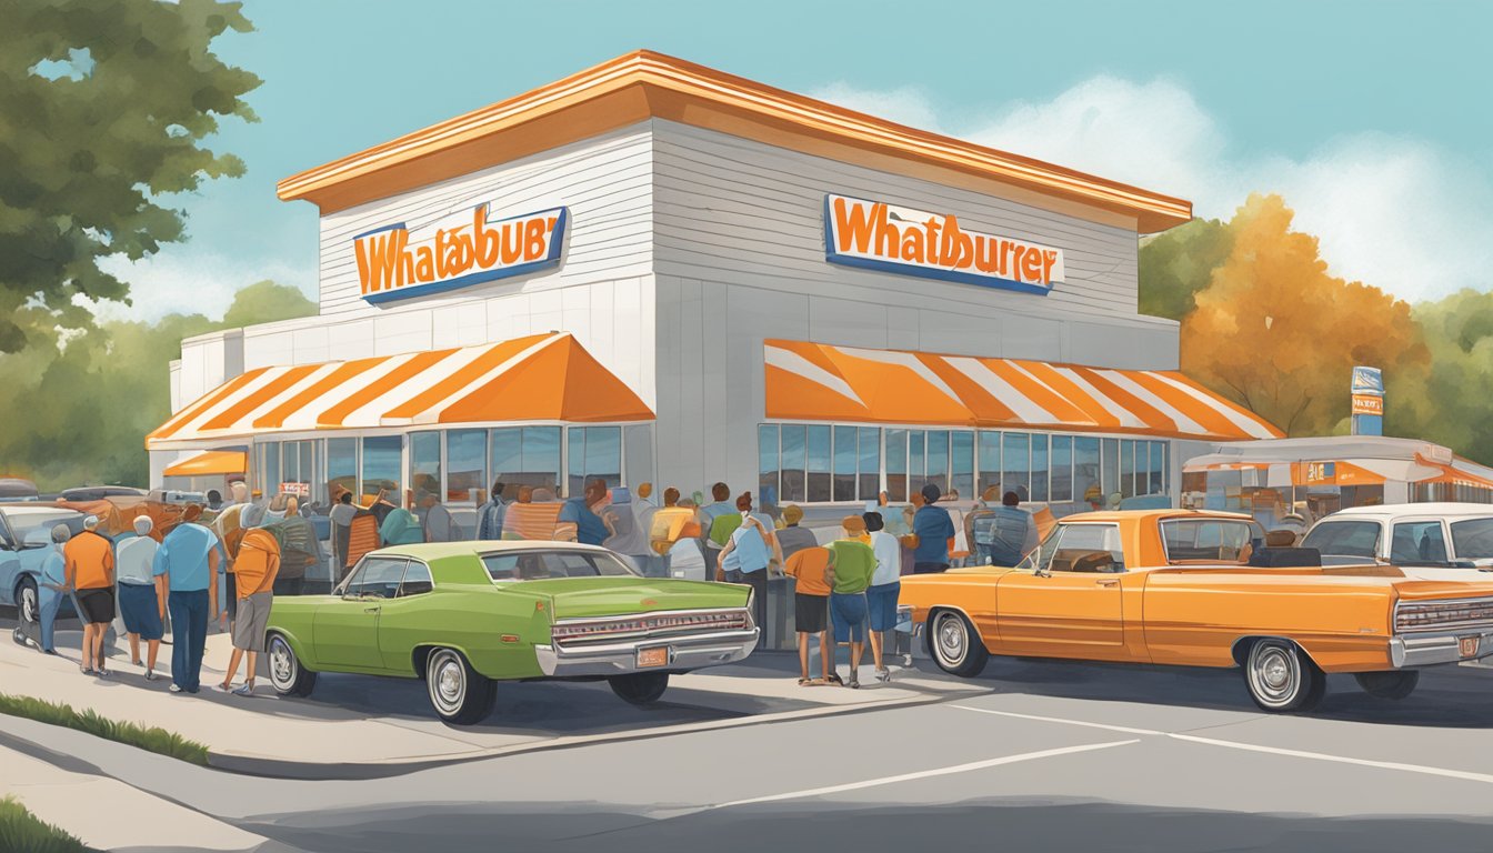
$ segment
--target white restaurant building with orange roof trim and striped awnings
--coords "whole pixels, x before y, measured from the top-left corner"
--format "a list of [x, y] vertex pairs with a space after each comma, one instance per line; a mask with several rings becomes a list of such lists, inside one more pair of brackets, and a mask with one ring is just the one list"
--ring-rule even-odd
[[320, 312], [182, 342], [152, 483], [1063, 514], [1280, 436], [1138, 311], [1138, 238], [1188, 202], [648, 51], [278, 191], [321, 212]]

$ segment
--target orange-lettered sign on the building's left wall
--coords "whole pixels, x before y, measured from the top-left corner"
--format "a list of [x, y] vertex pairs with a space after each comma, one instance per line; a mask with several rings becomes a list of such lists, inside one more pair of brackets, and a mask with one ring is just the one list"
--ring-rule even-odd
[[560, 263], [567, 208], [493, 221], [478, 205], [411, 232], [405, 223], [352, 238], [358, 287], [372, 303], [445, 293]]

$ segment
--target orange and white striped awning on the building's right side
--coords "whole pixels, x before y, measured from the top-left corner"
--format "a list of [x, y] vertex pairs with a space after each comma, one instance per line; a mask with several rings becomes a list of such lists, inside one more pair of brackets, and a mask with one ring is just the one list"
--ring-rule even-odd
[[1175, 370], [1117, 370], [767, 341], [767, 417], [799, 421], [1281, 438]]

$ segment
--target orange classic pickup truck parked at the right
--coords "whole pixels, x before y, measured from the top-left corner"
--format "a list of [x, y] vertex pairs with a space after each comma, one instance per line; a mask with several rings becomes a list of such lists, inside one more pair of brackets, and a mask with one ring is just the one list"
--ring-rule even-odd
[[1493, 581], [1312, 556], [1268, 547], [1247, 515], [1085, 512], [1015, 569], [905, 577], [899, 605], [954, 675], [978, 675], [991, 654], [1241, 666], [1266, 711], [1311, 710], [1326, 672], [1402, 699], [1421, 666], [1493, 654]]

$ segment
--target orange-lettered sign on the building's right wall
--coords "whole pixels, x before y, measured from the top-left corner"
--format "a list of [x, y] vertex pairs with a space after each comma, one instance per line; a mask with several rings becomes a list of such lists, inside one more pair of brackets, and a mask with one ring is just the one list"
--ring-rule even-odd
[[824, 197], [824, 260], [1041, 294], [1065, 275], [1063, 249], [967, 232], [953, 214], [848, 196]]

